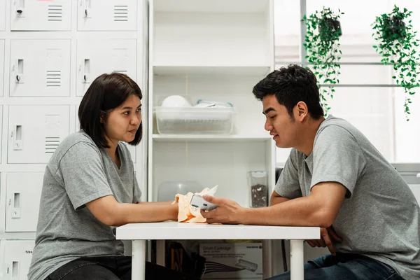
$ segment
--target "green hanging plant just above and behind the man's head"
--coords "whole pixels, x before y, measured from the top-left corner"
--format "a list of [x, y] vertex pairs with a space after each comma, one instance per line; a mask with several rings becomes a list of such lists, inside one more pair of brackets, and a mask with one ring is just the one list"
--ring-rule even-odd
[[[334, 97], [334, 85], [339, 83], [340, 65], [342, 52], [339, 50], [339, 36], [342, 29], [339, 22], [340, 10], [335, 14], [330, 8], [315, 11], [312, 15], [304, 15], [302, 21], [306, 23], [307, 31], [304, 36], [304, 48], [307, 56], [304, 58], [311, 64], [314, 74], [318, 80], [319, 97], [325, 116], [331, 109], [328, 106], [328, 97]], [[328, 87], [321, 87], [320, 84], [329, 84]]]

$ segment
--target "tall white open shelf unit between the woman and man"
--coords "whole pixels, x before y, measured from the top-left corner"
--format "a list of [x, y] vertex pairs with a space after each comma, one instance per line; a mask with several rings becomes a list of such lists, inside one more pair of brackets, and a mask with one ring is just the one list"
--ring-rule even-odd
[[[275, 145], [252, 89], [274, 69], [273, 1], [151, 0], [148, 67], [148, 201], [165, 181], [195, 181], [249, 207], [258, 170], [271, 194]], [[232, 134], [158, 134], [153, 108], [169, 95], [232, 103]]]

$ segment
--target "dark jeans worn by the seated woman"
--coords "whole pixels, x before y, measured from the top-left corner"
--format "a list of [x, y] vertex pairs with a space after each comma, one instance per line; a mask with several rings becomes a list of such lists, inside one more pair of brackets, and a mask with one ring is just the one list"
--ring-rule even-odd
[[[59, 267], [45, 280], [129, 280], [131, 270], [132, 258], [128, 256], [78, 258]], [[188, 274], [146, 262], [146, 280], [149, 279], [197, 280]]]

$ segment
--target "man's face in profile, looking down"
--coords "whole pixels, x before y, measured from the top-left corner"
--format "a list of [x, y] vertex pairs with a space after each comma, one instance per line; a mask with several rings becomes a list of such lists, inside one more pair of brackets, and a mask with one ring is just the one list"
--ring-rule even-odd
[[290, 118], [285, 106], [279, 104], [274, 94], [262, 99], [262, 113], [265, 114], [265, 130], [273, 136], [279, 148], [295, 146], [297, 139], [297, 123]]

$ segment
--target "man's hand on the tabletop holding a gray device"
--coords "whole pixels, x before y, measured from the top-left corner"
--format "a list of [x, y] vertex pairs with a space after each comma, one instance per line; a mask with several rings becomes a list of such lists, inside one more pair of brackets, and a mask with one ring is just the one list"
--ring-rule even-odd
[[211, 195], [203, 195], [203, 198], [207, 202], [218, 205], [214, 210], [201, 211], [202, 216], [207, 218], [207, 223], [241, 223], [244, 208], [237, 204], [237, 202], [228, 200], [227, 198], [213, 197]]

